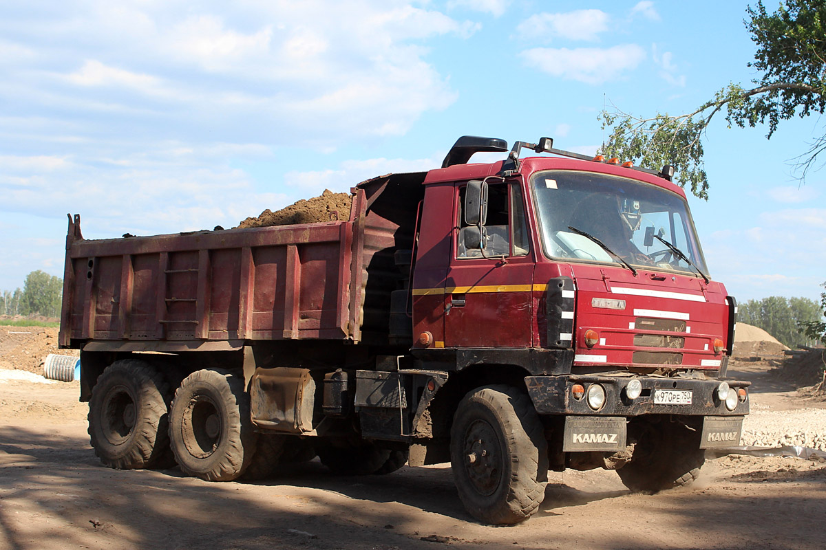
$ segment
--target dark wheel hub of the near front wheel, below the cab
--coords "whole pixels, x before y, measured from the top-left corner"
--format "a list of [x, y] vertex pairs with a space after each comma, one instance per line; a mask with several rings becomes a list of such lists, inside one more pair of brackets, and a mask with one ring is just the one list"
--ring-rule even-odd
[[493, 426], [482, 420], [468, 426], [463, 454], [473, 487], [482, 495], [491, 495], [499, 487], [503, 470], [500, 442]]

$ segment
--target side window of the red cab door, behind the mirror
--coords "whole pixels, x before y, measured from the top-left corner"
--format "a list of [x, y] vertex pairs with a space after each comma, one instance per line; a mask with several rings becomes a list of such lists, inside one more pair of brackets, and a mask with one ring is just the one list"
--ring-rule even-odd
[[506, 183], [488, 186], [487, 223], [482, 227], [481, 235], [476, 226], [468, 226], [464, 220], [462, 209], [466, 189], [459, 189], [456, 257], [482, 257], [482, 248], [485, 256], [525, 256], [529, 250], [528, 229], [519, 186]]

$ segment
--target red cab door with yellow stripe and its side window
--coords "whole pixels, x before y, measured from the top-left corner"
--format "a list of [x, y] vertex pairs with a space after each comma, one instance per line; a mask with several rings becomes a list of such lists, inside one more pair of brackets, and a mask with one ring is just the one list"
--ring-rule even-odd
[[[488, 187], [481, 245], [463, 215], [467, 184], [454, 191], [453, 248], [445, 279], [445, 347], [529, 347], [534, 258], [516, 182]], [[474, 238], [474, 233], [477, 237]]]

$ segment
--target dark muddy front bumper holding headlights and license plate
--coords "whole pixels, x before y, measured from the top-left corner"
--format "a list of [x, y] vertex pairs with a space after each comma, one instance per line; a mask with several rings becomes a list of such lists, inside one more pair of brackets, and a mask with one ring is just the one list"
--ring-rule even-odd
[[[625, 386], [632, 379], [643, 384], [643, 393], [634, 400], [625, 396]], [[745, 381], [727, 380], [733, 391], [751, 385]], [[573, 384], [585, 386], [601, 384], [605, 388], [605, 404], [599, 411], [588, 407], [586, 399], [575, 399], [571, 391]], [[684, 415], [684, 416], [744, 416], [748, 415], [749, 397], [739, 402], [733, 411], [726, 408], [716, 395], [718, 380], [696, 380], [693, 378], [657, 377], [612, 377], [593, 374], [562, 374], [557, 376], [528, 376], [525, 386], [531, 401], [540, 415], [585, 415], [585, 416], [640, 416], [640, 415]], [[691, 404], [657, 404], [654, 392], [658, 389], [690, 390]]]

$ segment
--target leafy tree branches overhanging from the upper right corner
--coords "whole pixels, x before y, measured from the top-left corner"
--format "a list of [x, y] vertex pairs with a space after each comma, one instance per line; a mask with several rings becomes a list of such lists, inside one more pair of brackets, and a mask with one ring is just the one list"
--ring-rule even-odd
[[[703, 162], [702, 138], [719, 112], [729, 128], [768, 125], [771, 138], [781, 120], [824, 114], [826, 110], [826, 0], [782, 0], [776, 12], [762, 2], [747, 8], [744, 21], [757, 46], [749, 67], [759, 78], [748, 86], [730, 83], [695, 110], [682, 115], [651, 117], [621, 110], [603, 110], [603, 128], [610, 135], [601, 153], [633, 159], [659, 170], [664, 164], [680, 168], [676, 182], [708, 199], [709, 183]], [[816, 157], [826, 149], [826, 134], [815, 139], [797, 158], [805, 178]]]

